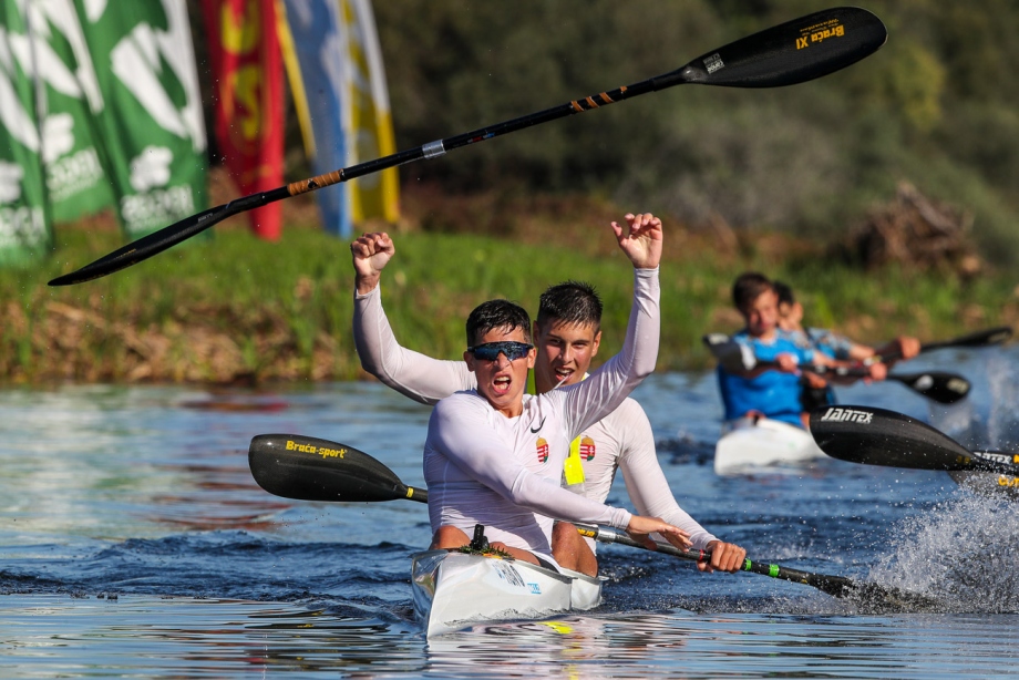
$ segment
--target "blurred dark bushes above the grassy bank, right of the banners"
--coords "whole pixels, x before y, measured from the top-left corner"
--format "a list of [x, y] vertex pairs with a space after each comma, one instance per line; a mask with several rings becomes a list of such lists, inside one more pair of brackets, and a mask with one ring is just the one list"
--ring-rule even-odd
[[[861, 0], [888, 42], [793, 87], [676, 87], [402, 172], [452, 193], [597, 192], [685, 224], [825, 238], [900, 182], [1019, 261], [1019, 3]], [[635, 83], [817, 11], [805, 0], [375, 2], [397, 146]], [[307, 176], [305, 173], [300, 176]]]

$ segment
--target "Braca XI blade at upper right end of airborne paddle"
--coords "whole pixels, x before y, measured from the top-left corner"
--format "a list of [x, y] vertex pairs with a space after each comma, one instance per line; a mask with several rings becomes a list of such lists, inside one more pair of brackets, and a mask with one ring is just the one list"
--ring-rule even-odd
[[655, 90], [678, 83], [794, 85], [845, 69], [876, 52], [887, 39], [885, 24], [867, 10], [823, 10], [712, 50], [678, 71], [653, 79]]

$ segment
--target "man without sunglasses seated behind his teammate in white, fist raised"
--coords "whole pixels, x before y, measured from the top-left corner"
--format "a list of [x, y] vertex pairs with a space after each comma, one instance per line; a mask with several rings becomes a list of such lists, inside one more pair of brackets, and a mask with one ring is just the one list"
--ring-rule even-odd
[[[378, 291], [381, 270], [395, 251], [388, 235], [366, 234], [351, 249], [358, 272], [354, 337], [364, 369], [422, 403], [474, 388], [475, 374], [465, 362], [440, 361], [405, 350], [393, 337]], [[584, 380], [598, 351], [600, 316], [597, 293], [584, 284], [568, 281], [542, 296], [534, 324], [538, 393]], [[719, 542], [676, 504], [655, 455], [650, 423], [637, 402], [626, 399], [610, 418], [574, 439], [569, 449], [566, 481], [572, 482], [573, 491], [604, 502], [616, 470], [621, 468], [638, 512], [661, 516], [687, 529], [698, 548], [713, 547], [712, 564], [702, 568], [734, 570], [742, 565], [742, 548]], [[552, 547], [563, 566], [588, 575], [597, 573], [593, 547], [570, 525], [556, 525]]]

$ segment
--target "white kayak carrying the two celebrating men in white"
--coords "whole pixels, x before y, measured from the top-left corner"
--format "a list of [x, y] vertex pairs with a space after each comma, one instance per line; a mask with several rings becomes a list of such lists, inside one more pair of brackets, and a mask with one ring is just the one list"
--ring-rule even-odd
[[547, 618], [601, 604], [601, 578], [558, 574], [495, 555], [426, 550], [412, 556], [414, 618], [428, 637], [487, 621]]

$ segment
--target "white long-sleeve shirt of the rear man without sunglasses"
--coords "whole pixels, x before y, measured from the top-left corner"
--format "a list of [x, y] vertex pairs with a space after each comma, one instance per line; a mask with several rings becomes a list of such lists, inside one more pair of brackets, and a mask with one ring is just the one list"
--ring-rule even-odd
[[[454, 392], [476, 387], [474, 373], [463, 361], [432, 359], [400, 346], [382, 309], [378, 287], [363, 296], [356, 295], [353, 329], [361, 365], [401, 394], [434, 404]], [[687, 530], [700, 549], [716, 539], [677, 504], [658, 462], [650, 422], [635, 400], [624, 400], [609, 415], [586, 427], [579, 439], [585, 483], [573, 491], [604, 503], [620, 470], [638, 514], [661, 517]], [[594, 549], [594, 542], [588, 543]]]

